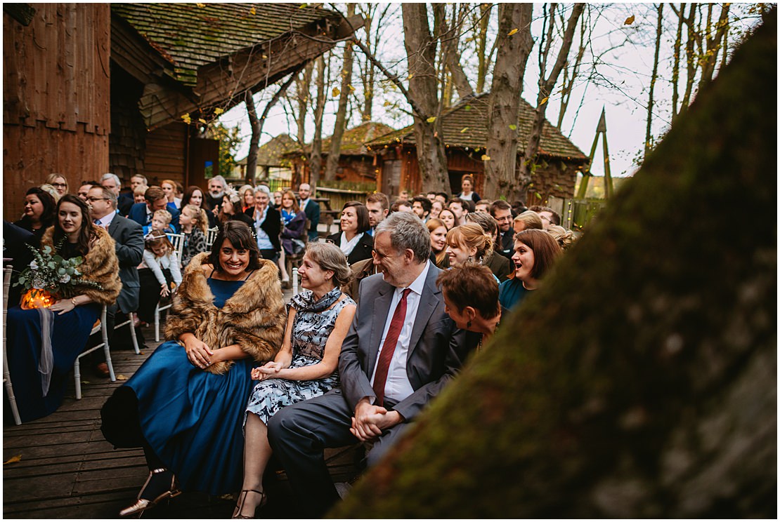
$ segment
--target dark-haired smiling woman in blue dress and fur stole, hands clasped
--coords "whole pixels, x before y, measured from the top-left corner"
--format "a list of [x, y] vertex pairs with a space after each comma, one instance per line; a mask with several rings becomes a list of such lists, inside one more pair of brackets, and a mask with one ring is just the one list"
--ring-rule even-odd
[[212, 495], [238, 490], [252, 359], [268, 362], [282, 345], [276, 266], [260, 259], [241, 221], [225, 223], [211, 252], [193, 258], [172, 309], [168, 341], [101, 412], [105, 438], [117, 447], [142, 446], [149, 464], [137, 502], [122, 515], [176, 496], [179, 485]]

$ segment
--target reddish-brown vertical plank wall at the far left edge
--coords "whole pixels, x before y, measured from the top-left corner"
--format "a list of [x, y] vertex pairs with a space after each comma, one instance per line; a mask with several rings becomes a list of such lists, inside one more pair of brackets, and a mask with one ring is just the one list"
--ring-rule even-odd
[[73, 186], [108, 170], [108, 4], [30, 4], [29, 26], [3, 14], [5, 219], [51, 172]]

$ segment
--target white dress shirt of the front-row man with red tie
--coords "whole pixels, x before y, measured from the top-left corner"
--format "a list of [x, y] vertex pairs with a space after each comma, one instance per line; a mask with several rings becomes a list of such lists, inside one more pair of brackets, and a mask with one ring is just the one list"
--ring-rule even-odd
[[[407, 287], [411, 291], [409, 295], [406, 296], [406, 317], [403, 320], [403, 327], [398, 336], [398, 344], [395, 345], [395, 351], [393, 351], [390, 367], [388, 368], [388, 379], [385, 382], [385, 400], [390, 399], [398, 403], [414, 393], [412, 383], [409, 382], [409, 376], [406, 374], [406, 358], [409, 355], [412, 328], [414, 326], [414, 319], [417, 318], [417, 309], [420, 308], [420, 298], [423, 295], [425, 278], [430, 269], [431, 262], [427, 261], [425, 263], [425, 268], [420, 275], [417, 276], [417, 279]], [[388, 330], [390, 330], [392, 316], [395, 313], [395, 307], [398, 306], [401, 301], [403, 291], [404, 288], [400, 287], [395, 288], [395, 292], [393, 292], [390, 309], [388, 310], [388, 317], [385, 319], [385, 330], [382, 331], [382, 338], [379, 341], [377, 361], [379, 361], [379, 354], [381, 354], [382, 347], [385, 346], [385, 337], [387, 337]], [[374, 376], [376, 375], [376, 372], [377, 365], [374, 365], [374, 371], [371, 373], [371, 386], [374, 385]], [[371, 404], [374, 404], [376, 397], [370, 398]]]

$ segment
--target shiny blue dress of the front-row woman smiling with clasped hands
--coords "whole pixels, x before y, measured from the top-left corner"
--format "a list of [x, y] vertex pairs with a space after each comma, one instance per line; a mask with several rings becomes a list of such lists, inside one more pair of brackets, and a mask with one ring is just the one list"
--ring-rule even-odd
[[[211, 278], [207, 282], [218, 308], [243, 284]], [[253, 364], [251, 358], [241, 359], [229, 372], [215, 375], [193, 366], [176, 341], [161, 344], [105, 404], [106, 439], [129, 446], [122, 437], [133, 427], [118, 423], [133, 418], [126, 413], [137, 398], [136, 421], [144, 439], [183, 489], [211, 495], [238, 491], [243, 479], [244, 400], [252, 390]]]

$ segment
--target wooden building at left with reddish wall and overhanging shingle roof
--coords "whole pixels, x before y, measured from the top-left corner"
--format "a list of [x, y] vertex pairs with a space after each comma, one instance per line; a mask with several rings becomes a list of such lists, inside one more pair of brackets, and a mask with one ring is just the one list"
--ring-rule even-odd
[[305, 4], [4, 4], [5, 218], [51, 172], [204, 186], [204, 124], [362, 23]]

